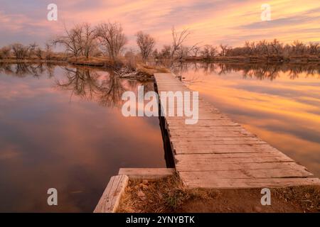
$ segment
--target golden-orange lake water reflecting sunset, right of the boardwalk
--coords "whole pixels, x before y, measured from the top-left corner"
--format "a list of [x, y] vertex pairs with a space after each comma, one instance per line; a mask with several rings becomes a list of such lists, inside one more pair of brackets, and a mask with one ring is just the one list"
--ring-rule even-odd
[[176, 65], [183, 82], [320, 177], [320, 67]]

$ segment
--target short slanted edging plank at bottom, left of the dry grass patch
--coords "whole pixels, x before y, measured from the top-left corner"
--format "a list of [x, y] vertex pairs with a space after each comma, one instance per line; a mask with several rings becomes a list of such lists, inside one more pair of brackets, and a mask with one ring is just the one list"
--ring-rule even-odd
[[105, 192], [103, 192], [100, 201], [95, 207], [94, 213], [114, 213], [119, 206], [122, 193], [127, 187], [129, 177], [126, 175], [117, 175], [111, 177], [107, 184]]

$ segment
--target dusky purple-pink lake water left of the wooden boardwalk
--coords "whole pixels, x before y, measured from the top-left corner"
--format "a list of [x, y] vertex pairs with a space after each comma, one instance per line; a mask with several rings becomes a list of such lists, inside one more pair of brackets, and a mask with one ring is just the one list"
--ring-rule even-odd
[[[1, 65], [0, 211], [92, 212], [120, 167], [166, 167], [159, 118], [119, 109], [138, 85], [97, 70]], [[58, 206], [48, 206], [49, 188]]]

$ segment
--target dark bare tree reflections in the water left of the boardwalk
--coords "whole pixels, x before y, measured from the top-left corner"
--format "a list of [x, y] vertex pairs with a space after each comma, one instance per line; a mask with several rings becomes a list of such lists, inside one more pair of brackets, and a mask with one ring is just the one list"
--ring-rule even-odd
[[[58, 67], [63, 75], [55, 71]], [[71, 67], [52, 64], [6, 64], [0, 63], [0, 73], [14, 77], [41, 77], [54, 78], [57, 89], [71, 91], [81, 99], [96, 101], [102, 106], [121, 106], [122, 94], [126, 91], [137, 91], [139, 85], [144, 86], [144, 92], [154, 90], [151, 82], [138, 82], [135, 79], [122, 79], [112, 71], [103, 71], [90, 67]]]

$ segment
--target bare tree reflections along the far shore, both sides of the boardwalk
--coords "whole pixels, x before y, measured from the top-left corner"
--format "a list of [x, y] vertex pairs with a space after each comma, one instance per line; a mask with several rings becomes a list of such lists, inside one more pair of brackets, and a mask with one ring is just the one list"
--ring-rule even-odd
[[[137, 86], [144, 85], [144, 92], [153, 91], [153, 83], [137, 82], [137, 80], [122, 79], [114, 72], [102, 71], [90, 67], [61, 66], [63, 77], [56, 77], [55, 67], [50, 64], [6, 64], [0, 63], [0, 73], [15, 77], [41, 77], [46, 74], [55, 78], [58, 89], [71, 91], [72, 95], [82, 99], [96, 101], [102, 106], [121, 106], [122, 94], [126, 91], [137, 91]], [[189, 77], [186, 83], [201, 82], [199, 74], [228, 74], [241, 72], [244, 78], [274, 80], [279, 74], [287, 74], [290, 79], [304, 77], [320, 78], [320, 65], [316, 64], [245, 64], [245, 63], [217, 63], [217, 62], [175, 62], [172, 72], [183, 75], [185, 72], [198, 72]]]

